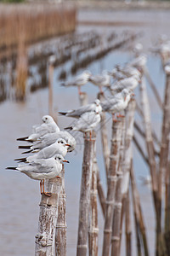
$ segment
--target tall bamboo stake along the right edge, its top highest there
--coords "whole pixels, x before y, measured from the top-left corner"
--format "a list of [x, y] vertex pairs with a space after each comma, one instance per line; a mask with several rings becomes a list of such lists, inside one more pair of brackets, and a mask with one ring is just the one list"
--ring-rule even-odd
[[163, 120], [161, 125], [161, 149], [160, 162], [158, 174], [158, 200], [159, 200], [159, 214], [161, 215], [161, 201], [162, 201], [162, 183], [165, 178], [168, 161], [168, 143], [169, 143], [169, 129], [170, 129], [170, 67], [164, 67], [166, 72], [166, 87], [163, 104]]

